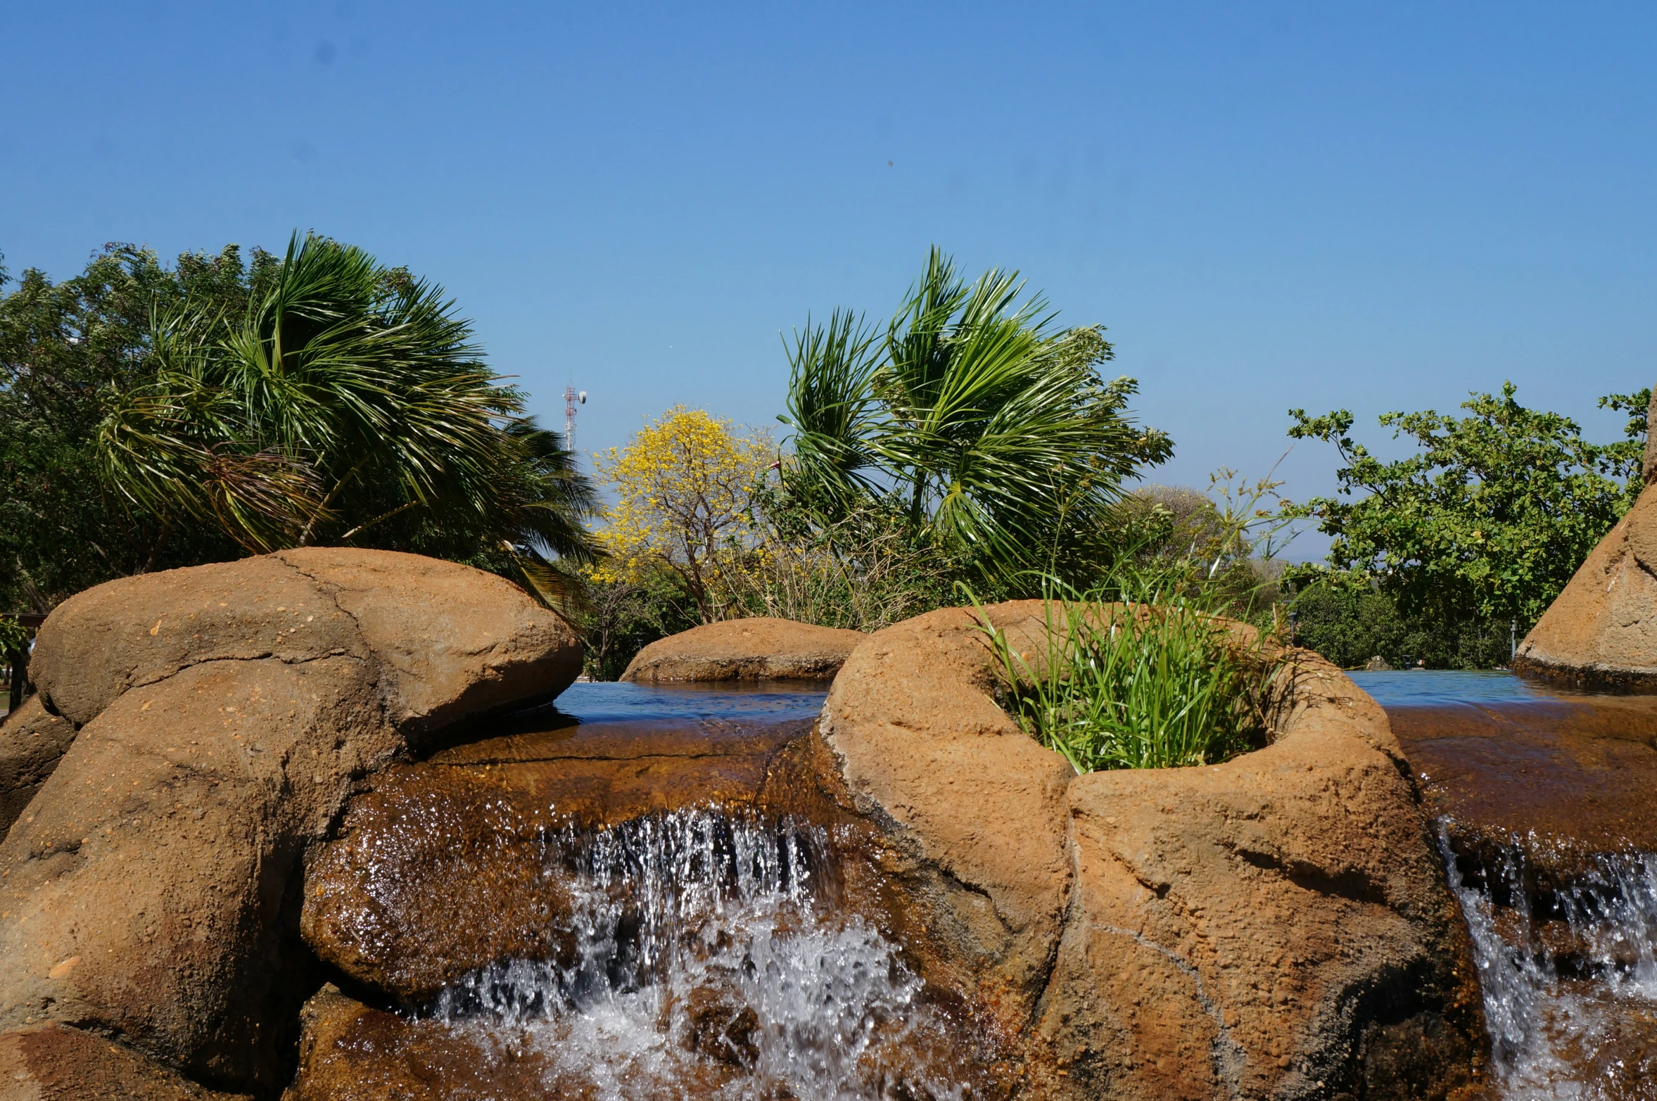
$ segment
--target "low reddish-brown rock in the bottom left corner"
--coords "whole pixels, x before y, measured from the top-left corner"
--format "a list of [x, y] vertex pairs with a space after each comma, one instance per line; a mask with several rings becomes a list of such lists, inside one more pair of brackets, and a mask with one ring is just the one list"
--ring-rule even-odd
[[0, 1101], [247, 1101], [179, 1078], [136, 1051], [63, 1025], [0, 1035]]

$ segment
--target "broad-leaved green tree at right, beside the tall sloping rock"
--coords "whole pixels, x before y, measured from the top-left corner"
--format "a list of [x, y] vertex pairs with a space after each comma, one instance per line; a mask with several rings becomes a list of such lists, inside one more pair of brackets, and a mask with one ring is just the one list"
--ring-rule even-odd
[[1289, 435], [1334, 444], [1342, 464], [1337, 497], [1284, 507], [1332, 536], [1327, 563], [1292, 571], [1291, 583], [1372, 586], [1440, 639], [1473, 629], [1505, 641], [1510, 621], [1534, 623], [1639, 493], [1650, 392], [1601, 401], [1630, 412], [1627, 439], [1611, 444], [1582, 439], [1569, 417], [1526, 409], [1514, 392], [1506, 382], [1500, 396], [1473, 394], [1463, 417], [1382, 416], [1395, 439], [1418, 447], [1394, 462], [1354, 442], [1350, 412], [1291, 409]]

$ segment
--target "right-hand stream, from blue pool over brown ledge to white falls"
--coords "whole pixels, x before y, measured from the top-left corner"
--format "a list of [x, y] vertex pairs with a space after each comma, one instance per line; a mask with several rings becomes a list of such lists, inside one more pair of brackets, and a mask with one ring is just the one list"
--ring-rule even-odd
[[1501, 674], [1355, 679], [1435, 810], [1498, 1096], [1657, 1101], [1657, 709]]

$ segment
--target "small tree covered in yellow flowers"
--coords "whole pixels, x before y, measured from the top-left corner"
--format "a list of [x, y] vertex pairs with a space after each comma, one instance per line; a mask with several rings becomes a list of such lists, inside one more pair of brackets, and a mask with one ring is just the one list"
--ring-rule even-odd
[[593, 579], [638, 583], [666, 568], [703, 623], [724, 618], [737, 575], [762, 538], [754, 502], [777, 460], [771, 435], [674, 406], [631, 444], [593, 460], [616, 492], [598, 531], [608, 561], [592, 571]]

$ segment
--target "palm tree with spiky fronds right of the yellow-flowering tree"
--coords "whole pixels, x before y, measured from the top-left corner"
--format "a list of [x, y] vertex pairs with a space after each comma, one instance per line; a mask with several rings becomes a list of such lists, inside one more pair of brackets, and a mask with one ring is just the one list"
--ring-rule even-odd
[[1002, 579], [1097, 561], [1122, 482], [1171, 454], [1105, 382], [1100, 328], [1054, 331], [1016, 272], [968, 285], [933, 248], [885, 333], [848, 311], [789, 348], [784, 480], [824, 523], [895, 498], [913, 528]]

